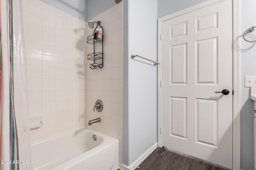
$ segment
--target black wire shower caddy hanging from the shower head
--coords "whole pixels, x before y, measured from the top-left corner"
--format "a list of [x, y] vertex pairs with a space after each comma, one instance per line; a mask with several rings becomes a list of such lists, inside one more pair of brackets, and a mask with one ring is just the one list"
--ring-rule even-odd
[[[94, 29], [93, 33], [95, 33], [95, 30], [97, 29], [97, 27], [100, 26], [100, 21], [97, 22], [97, 26]], [[96, 39], [94, 39], [94, 34], [89, 35], [87, 37], [87, 43], [89, 44], [93, 44], [93, 53], [90, 53], [87, 55], [87, 60], [91, 60], [93, 61], [92, 64], [90, 64], [90, 68], [91, 69], [96, 69], [97, 67], [102, 68], [103, 67], [103, 27], [100, 26], [102, 28], [102, 39], [98, 38], [98, 36], [96, 36]], [[95, 44], [96, 43], [102, 43], [102, 52], [95, 52]], [[101, 60], [101, 63], [96, 63], [96, 60], [99, 61]]]

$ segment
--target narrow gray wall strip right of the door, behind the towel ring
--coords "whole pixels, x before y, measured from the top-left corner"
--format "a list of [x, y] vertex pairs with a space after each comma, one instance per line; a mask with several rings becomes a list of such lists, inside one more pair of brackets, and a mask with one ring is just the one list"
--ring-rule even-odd
[[[240, 0], [240, 35], [256, 25], [256, 1]], [[246, 37], [256, 39], [256, 31]], [[254, 36], [251, 36], [254, 35]], [[254, 169], [254, 105], [250, 88], [244, 87], [244, 76], [256, 75], [256, 46], [240, 37], [240, 106], [241, 106], [241, 169]]]

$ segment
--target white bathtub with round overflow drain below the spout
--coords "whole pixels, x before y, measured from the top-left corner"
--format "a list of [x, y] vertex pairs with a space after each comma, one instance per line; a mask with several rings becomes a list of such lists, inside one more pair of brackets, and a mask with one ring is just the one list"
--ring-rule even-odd
[[32, 143], [32, 165], [34, 170], [117, 170], [118, 145], [118, 139], [84, 127]]

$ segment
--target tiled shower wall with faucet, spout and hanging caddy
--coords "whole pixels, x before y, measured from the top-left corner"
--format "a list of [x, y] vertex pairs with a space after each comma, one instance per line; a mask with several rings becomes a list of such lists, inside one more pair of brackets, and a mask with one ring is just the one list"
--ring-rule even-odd
[[[101, 122], [89, 127], [119, 139], [119, 162], [122, 163], [122, 46], [123, 2], [116, 4], [90, 21], [101, 21], [104, 28], [104, 66], [90, 69], [86, 60], [86, 125], [90, 119], [100, 117]], [[96, 26], [96, 24], [95, 24]], [[94, 29], [86, 25], [86, 35]], [[95, 52], [102, 52], [102, 44], [96, 44]], [[86, 43], [87, 53], [93, 53], [93, 45]], [[96, 60], [96, 63], [101, 60]], [[93, 111], [96, 100], [102, 100], [102, 112]]]

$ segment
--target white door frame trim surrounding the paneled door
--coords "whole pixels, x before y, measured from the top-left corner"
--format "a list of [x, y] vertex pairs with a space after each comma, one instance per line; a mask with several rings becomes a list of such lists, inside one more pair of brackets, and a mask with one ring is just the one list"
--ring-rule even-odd
[[[162, 23], [189, 12], [222, 2], [207, 0], [158, 19], [158, 62], [162, 63]], [[240, 170], [240, 49], [239, 49], [239, 1], [232, 0], [233, 35], [233, 170]], [[162, 65], [158, 66], [158, 147], [162, 147]]]

